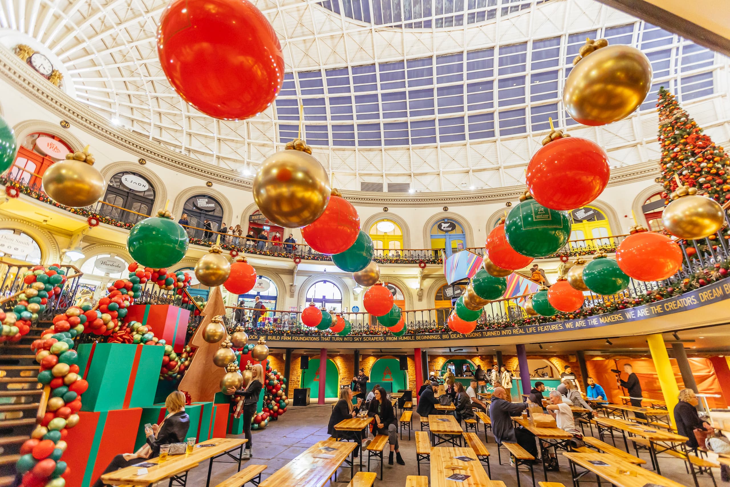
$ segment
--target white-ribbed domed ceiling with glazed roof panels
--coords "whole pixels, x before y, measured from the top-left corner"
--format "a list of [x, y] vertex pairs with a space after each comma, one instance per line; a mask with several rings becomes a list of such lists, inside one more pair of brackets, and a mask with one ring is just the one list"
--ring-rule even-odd
[[656, 160], [659, 85], [720, 127], [718, 142], [730, 139], [728, 59], [593, 0], [258, 0], [287, 75], [274, 106], [245, 121], [202, 115], [169, 86], [155, 50], [166, 3], [6, 1], [0, 37], [37, 39], [64, 64], [77, 99], [120, 126], [244, 175], [296, 136], [302, 104], [304, 137], [338, 187], [520, 184], [548, 117], [572, 123], [561, 90], [585, 37], [634, 45], [653, 64], [642, 110], [571, 129], [604, 145], [613, 166]]

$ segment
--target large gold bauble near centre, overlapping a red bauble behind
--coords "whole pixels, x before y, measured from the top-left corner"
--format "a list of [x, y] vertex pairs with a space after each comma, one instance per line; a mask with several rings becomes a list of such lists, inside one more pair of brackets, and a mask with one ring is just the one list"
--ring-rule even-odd
[[[298, 143], [300, 142], [300, 143]], [[307, 226], [322, 215], [331, 187], [322, 164], [304, 141], [269, 156], [253, 178], [253, 200], [261, 214], [288, 229]]]

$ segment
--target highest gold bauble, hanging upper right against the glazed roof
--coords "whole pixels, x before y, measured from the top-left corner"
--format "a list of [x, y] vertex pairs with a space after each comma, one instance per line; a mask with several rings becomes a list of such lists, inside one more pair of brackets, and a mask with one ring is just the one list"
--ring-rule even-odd
[[568, 75], [563, 103], [583, 125], [599, 126], [631, 115], [651, 88], [651, 63], [640, 50], [612, 45], [585, 55]]

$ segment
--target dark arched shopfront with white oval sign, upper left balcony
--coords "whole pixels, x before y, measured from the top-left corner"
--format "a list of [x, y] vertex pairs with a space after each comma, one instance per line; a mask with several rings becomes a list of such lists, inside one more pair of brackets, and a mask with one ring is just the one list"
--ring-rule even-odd
[[[113, 175], [107, 185], [107, 193], [99, 204], [99, 214], [127, 223], [137, 223], [152, 215], [155, 204], [155, 187], [137, 172], [123, 171]], [[111, 206], [111, 205], [114, 206]], [[119, 207], [119, 208], [117, 208]], [[142, 215], [126, 212], [132, 210]]]

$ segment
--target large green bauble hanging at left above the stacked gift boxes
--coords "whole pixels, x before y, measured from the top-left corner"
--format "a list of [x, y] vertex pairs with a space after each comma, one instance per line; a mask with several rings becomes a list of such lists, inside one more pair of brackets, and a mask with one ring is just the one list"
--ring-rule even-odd
[[127, 237], [129, 253], [144, 267], [169, 267], [188, 251], [188, 234], [170, 218], [153, 216], [133, 226]]

